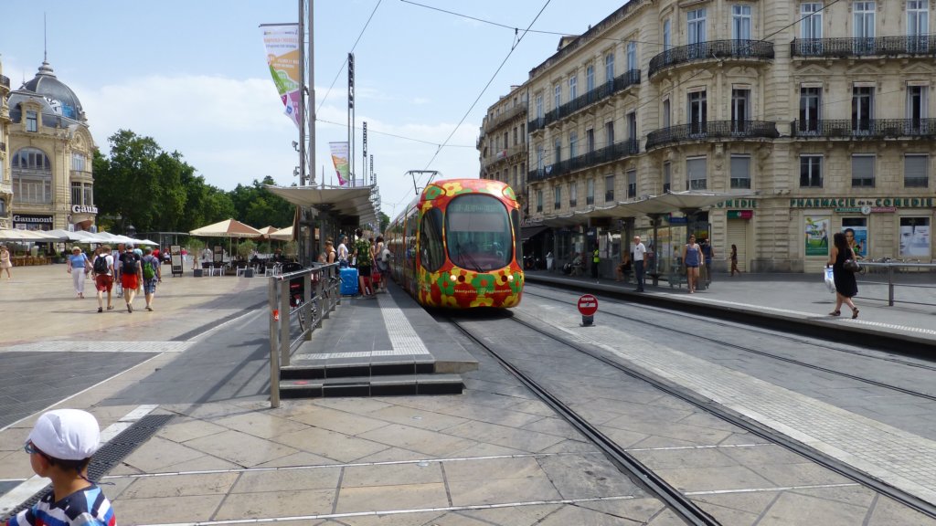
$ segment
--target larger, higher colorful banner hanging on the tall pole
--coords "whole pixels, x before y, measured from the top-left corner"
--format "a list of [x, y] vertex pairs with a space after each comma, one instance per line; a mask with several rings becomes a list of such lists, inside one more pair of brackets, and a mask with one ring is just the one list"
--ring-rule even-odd
[[267, 48], [267, 66], [276, 91], [285, 106], [285, 114], [299, 127], [300, 60], [299, 24], [261, 24], [263, 45]]

